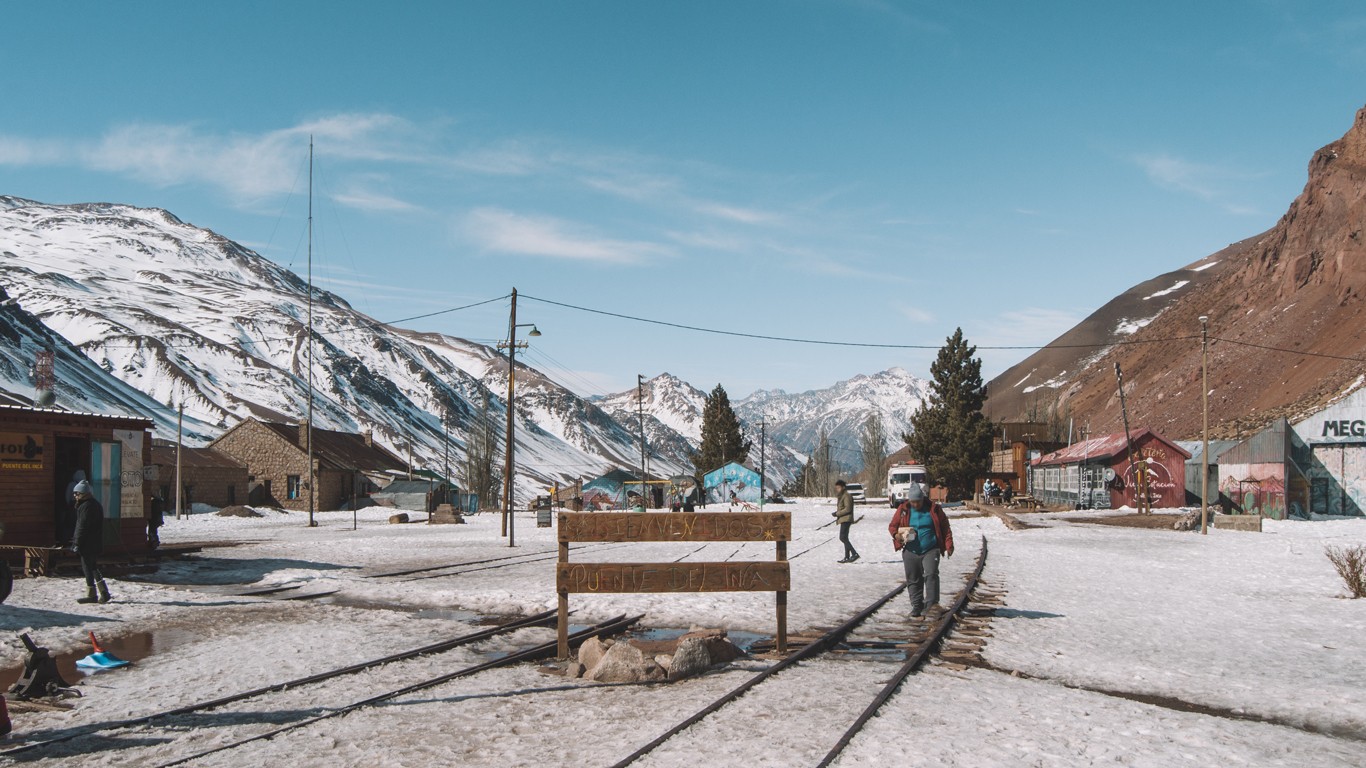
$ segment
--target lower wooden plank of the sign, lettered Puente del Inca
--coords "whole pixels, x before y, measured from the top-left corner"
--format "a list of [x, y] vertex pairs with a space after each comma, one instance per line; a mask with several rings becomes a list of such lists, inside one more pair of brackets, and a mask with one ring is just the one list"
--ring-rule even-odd
[[[641, 512], [637, 512], [639, 517]], [[649, 514], [649, 512], [646, 512]], [[561, 593], [788, 592], [788, 563], [560, 563]]]

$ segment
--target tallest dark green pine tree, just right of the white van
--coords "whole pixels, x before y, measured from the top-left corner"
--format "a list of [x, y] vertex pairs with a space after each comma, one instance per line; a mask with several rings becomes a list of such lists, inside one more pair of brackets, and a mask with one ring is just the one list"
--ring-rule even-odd
[[982, 413], [982, 361], [975, 353], [963, 329], [953, 331], [930, 365], [929, 399], [911, 415], [912, 432], [903, 436], [930, 481], [948, 488], [949, 499], [971, 496], [992, 450], [992, 422]]

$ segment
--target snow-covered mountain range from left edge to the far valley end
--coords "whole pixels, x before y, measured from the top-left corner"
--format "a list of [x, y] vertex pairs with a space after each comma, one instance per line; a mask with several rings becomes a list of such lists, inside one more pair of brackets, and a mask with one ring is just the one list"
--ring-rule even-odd
[[[34, 358], [53, 350], [59, 406], [146, 415], [158, 437], [175, 437], [182, 403], [189, 444], [253, 415], [299, 422], [310, 391], [316, 425], [373, 430], [418, 466], [441, 466], [447, 436], [460, 466], [484, 418], [504, 432], [501, 353], [377, 323], [316, 287], [310, 306], [299, 276], [165, 210], [0, 195], [0, 389], [31, 395]], [[518, 497], [639, 466], [642, 413], [650, 473], [691, 473], [702, 391], [663, 373], [639, 392], [587, 400], [518, 368]], [[735, 406], [755, 445], [766, 420], [766, 458], [783, 481], [821, 425], [852, 447], [877, 411], [895, 448], [923, 387], [893, 369]]]

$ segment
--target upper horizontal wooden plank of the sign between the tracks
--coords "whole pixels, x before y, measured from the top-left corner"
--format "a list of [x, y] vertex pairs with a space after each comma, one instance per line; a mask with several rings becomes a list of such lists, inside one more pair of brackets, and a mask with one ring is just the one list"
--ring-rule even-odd
[[560, 512], [560, 541], [791, 541], [791, 512]]

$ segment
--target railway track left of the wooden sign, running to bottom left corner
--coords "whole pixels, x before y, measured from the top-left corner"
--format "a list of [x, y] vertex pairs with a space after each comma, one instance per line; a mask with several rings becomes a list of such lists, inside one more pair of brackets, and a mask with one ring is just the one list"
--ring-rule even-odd
[[[576, 645], [582, 644], [583, 641], [586, 641], [590, 637], [602, 637], [602, 635], [611, 635], [611, 634], [622, 633], [622, 631], [624, 631], [627, 627], [630, 627], [631, 625], [634, 625], [638, 620], [639, 620], [639, 616], [627, 618], [624, 615], [620, 615], [620, 616], [616, 616], [613, 619], [608, 619], [607, 622], [600, 622], [597, 625], [593, 625], [590, 627], [586, 627], [583, 630], [579, 630], [579, 631], [571, 634], [570, 644], [574, 645], [574, 646], [576, 646]], [[373, 659], [370, 661], [362, 661], [359, 664], [350, 664], [347, 667], [342, 667], [342, 668], [337, 668], [337, 670], [318, 672], [318, 674], [314, 674], [314, 675], [307, 675], [307, 676], [303, 676], [303, 678], [296, 678], [296, 679], [291, 679], [291, 681], [285, 681], [285, 682], [272, 683], [272, 685], [255, 687], [255, 689], [251, 689], [251, 690], [245, 690], [245, 691], [240, 691], [240, 693], [235, 693], [235, 694], [229, 694], [229, 696], [224, 696], [224, 697], [208, 700], [208, 701], [201, 701], [201, 702], [186, 705], [186, 707], [176, 707], [176, 708], [172, 708], [172, 709], [165, 709], [165, 711], [161, 711], [161, 712], [154, 712], [152, 715], [143, 715], [143, 716], [130, 717], [130, 719], [124, 719], [124, 720], [115, 720], [115, 722], [109, 722], [109, 723], [101, 723], [101, 724], [90, 726], [90, 727], [85, 727], [85, 728], [75, 728], [75, 730], [72, 730], [70, 732], [66, 732], [66, 734], [61, 734], [61, 735], [57, 735], [57, 737], [51, 737], [51, 738], [45, 738], [45, 739], [37, 739], [37, 741], [23, 742], [23, 743], [11, 746], [8, 749], [0, 750], [0, 758], [7, 758], [7, 760], [12, 761], [12, 760], [19, 758], [19, 756], [25, 756], [25, 760], [31, 760], [31, 758], [44, 757], [45, 754], [42, 754], [42, 753], [45, 753], [45, 752], [46, 753], [63, 752], [66, 754], [83, 754], [85, 750], [72, 749], [72, 748], [78, 746], [82, 739], [98, 739], [101, 742], [100, 749], [104, 750], [104, 749], [109, 749], [111, 743], [116, 743], [116, 737], [122, 731], [128, 731], [128, 730], [134, 730], [134, 728], [143, 728], [143, 727], [167, 727], [167, 726], [175, 726], [178, 720], [183, 720], [183, 719], [186, 719], [190, 715], [209, 712], [209, 711], [213, 711], [213, 709], [219, 709], [219, 708], [227, 707], [229, 704], [236, 704], [236, 702], [242, 702], [242, 701], [247, 701], [247, 700], [254, 700], [254, 698], [258, 698], [258, 697], [264, 697], [264, 696], [269, 696], [269, 694], [280, 693], [280, 691], [292, 691], [292, 690], [298, 690], [301, 687], [314, 686], [317, 683], [322, 683], [322, 682], [332, 681], [332, 679], [336, 679], [336, 678], [343, 678], [343, 676], [348, 676], [348, 675], [357, 675], [357, 674], [361, 674], [361, 672], [365, 672], [365, 671], [369, 671], [369, 670], [376, 670], [376, 668], [384, 667], [387, 664], [395, 664], [395, 663], [407, 661], [407, 660], [411, 660], [411, 659], [418, 659], [418, 657], [425, 657], [425, 656], [433, 656], [433, 655], [437, 655], [437, 653], [444, 653], [444, 652], [452, 650], [455, 648], [467, 646], [467, 645], [473, 645], [475, 642], [488, 641], [488, 640], [496, 638], [499, 635], [507, 635], [507, 634], [511, 634], [511, 633], [522, 630], [522, 629], [535, 627], [535, 626], [546, 626], [546, 625], [553, 625], [553, 623], [555, 623], [555, 611], [545, 611], [542, 614], [537, 614], [534, 616], [527, 616], [525, 619], [518, 619], [518, 620], [510, 622], [507, 625], [500, 625], [497, 627], [489, 627], [486, 630], [479, 630], [479, 631], [475, 631], [475, 633], [470, 633], [470, 634], [460, 635], [460, 637], [456, 637], [456, 638], [451, 638], [451, 640], [445, 640], [445, 641], [429, 644], [429, 645], [425, 645], [425, 646], [421, 646], [421, 648], [415, 648], [415, 649], [411, 649], [411, 650], [404, 650], [404, 652], [393, 653], [393, 655], [384, 656], [384, 657], [380, 657], [380, 659]], [[287, 732], [287, 731], [291, 731], [291, 730], [303, 728], [303, 727], [307, 727], [307, 726], [310, 726], [313, 723], [317, 723], [317, 722], [321, 722], [321, 720], [325, 720], [325, 719], [329, 719], [329, 717], [335, 717], [335, 716], [339, 716], [339, 715], [354, 712], [354, 711], [362, 709], [365, 707], [373, 707], [373, 705], [381, 704], [384, 701], [389, 701], [392, 698], [396, 698], [396, 697], [400, 697], [400, 696], [406, 696], [408, 693], [414, 693], [414, 691], [418, 691], [418, 690], [425, 690], [428, 687], [438, 686], [441, 683], [445, 683], [445, 682], [449, 682], [449, 681], [454, 681], [454, 679], [458, 679], [458, 678], [470, 676], [470, 675], [474, 675], [474, 674], [478, 674], [478, 672], [484, 672], [484, 671], [488, 671], [488, 670], [494, 670], [494, 668], [499, 668], [499, 667], [507, 667], [507, 666], [512, 666], [512, 664], [520, 664], [523, 661], [533, 661], [533, 660], [548, 659], [548, 657], [555, 656], [555, 653], [556, 653], [556, 641], [552, 640], [549, 642], [542, 642], [542, 644], [538, 644], [538, 645], [534, 645], [534, 646], [530, 646], [530, 648], [525, 648], [525, 649], [520, 649], [520, 650], [516, 650], [516, 652], [512, 652], [512, 653], [505, 653], [505, 655], [497, 656], [497, 657], [494, 657], [492, 660], [482, 661], [479, 664], [473, 664], [473, 666], [463, 667], [463, 668], [459, 668], [459, 670], [455, 670], [455, 671], [451, 671], [451, 672], [444, 672], [441, 675], [423, 678], [423, 679], [419, 679], [417, 682], [408, 683], [406, 686], [402, 686], [402, 687], [398, 687], [398, 689], [393, 689], [393, 690], [388, 690], [388, 691], [377, 694], [377, 696], [372, 696], [372, 697], [355, 701], [352, 704], [347, 704], [347, 705], [336, 707], [336, 708], [328, 708], [328, 709], [324, 709], [322, 712], [320, 712], [317, 715], [305, 716], [305, 717], [298, 719], [295, 722], [290, 722], [290, 723], [285, 723], [285, 724], [283, 724], [280, 727], [272, 728], [272, 730], [269, 730], [266, 732], [253, 734], [250, 737], [240, 738], [240, 739], [236, 739], [236, 741], [231, 741], [228, 743], [216, 746], [216, 748], [209, 749], [209, 750], [202, 750], [202, 752], [197, 752], [194, 754], [182, 756], [182, 757], [178, 757], [178, 758], [169, 761], [169, 763], [164, 763], [163, 765], [180, 765], [183, 763], [189, 763], [191, 760], [197, 760], [197, 758], [205, 757], [208, 754], [213, 754], [213, 753], [219, 753], [219, 752], [225, 752], [225, 750], [235, 749], [235, 748], [239, 748], [242, 745], [251, 743], [251, 742], [255, 742], [255, 741], [273, 738], [273, 737], [276, 737], [279, 734], [283, 734], [283, 732]], [[61, 746], [61, 745], [64, 745], [64, 746]], [[139, 764], [148, 764], [148, 763], [141, 763], [139, 761]]]

